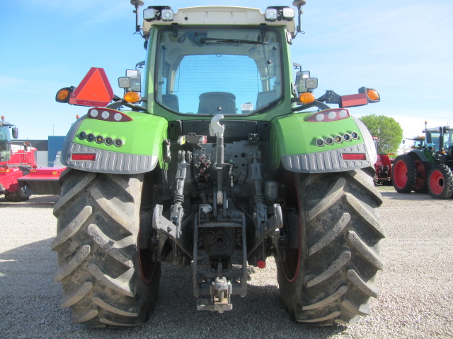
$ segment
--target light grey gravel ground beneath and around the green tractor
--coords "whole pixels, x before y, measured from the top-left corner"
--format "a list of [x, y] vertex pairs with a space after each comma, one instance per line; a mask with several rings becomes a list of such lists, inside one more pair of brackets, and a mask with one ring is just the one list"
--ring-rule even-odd
[[452, 338], [453, 202], [379, 190], [386, 230], [381, 295], [358, 323], [318, 328], [289, 321], [272, 259], [263, 270], [250, 268], [248, 296], [234, 298], [234, 310], [224, 314], [195, 311], [192, 271], [165, 265], [159, 301], [144, 326], [96, 330], [71, 323], [53, 281], [58, 197], [24, 203], [1, 197], [0, 338]]

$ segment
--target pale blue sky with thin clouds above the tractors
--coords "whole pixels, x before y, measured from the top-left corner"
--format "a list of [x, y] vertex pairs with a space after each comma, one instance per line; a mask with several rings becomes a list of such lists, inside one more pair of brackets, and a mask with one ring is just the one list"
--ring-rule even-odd
[[[154, 1], [144, 0], [145, 6]], [[285, 1], [160, 1], [182, 6], [260, 8]], [[453, 87], [453, 1], [306, 0], [302, 29], [292, 46], [293, 61], [340, 95], [362, 86], [381, 102], [350, 109], [360, 117], [393, 117], [404, 136], [428, 126], [450, 124]], [[144, 7], [142, 7], [143, 9]], [[20, 138], [65, 135], [85, 107], [58, 104], [55, 93], [79, 85], [91, 66], [103, 67], [117, 95], [117, 77], [144, 59], [134, 33], [129, 0], [0, 1], [1, 115], [16, 124]]]

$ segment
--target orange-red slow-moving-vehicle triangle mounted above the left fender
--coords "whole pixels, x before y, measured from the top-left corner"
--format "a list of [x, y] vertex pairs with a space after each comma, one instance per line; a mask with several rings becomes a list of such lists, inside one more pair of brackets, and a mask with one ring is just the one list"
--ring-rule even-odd
[[76, 105], [105, 107], [113, 99], [113, 90], [104, 69], [91, 67], [74, 90]]

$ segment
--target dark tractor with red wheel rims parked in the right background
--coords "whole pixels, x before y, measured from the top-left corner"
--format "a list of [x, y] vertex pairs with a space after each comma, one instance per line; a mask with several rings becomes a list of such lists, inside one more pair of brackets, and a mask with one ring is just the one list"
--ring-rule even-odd
[[453, 195], [453, 129], [440, 126], [424, 129], [411, 152], [396, 157], [392, 172], [398, 193], [430, 192], [433, 198]]

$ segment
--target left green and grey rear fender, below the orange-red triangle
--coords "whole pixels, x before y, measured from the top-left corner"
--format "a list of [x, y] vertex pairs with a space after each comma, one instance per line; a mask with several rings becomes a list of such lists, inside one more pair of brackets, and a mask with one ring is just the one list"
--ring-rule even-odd
[[[78, 119], [64, 139], [62, 164], [88, 172], [115, 174], [145, 173], [154, 169], [163, 159], [168, 122], [147, 113], [123, 113], [132, 121], [104, 121], [86, 115]], [[94, 136], [92, 141], [88, 140], [89, 135]], [[118, 142], [115, 144], [115, 141]]]

